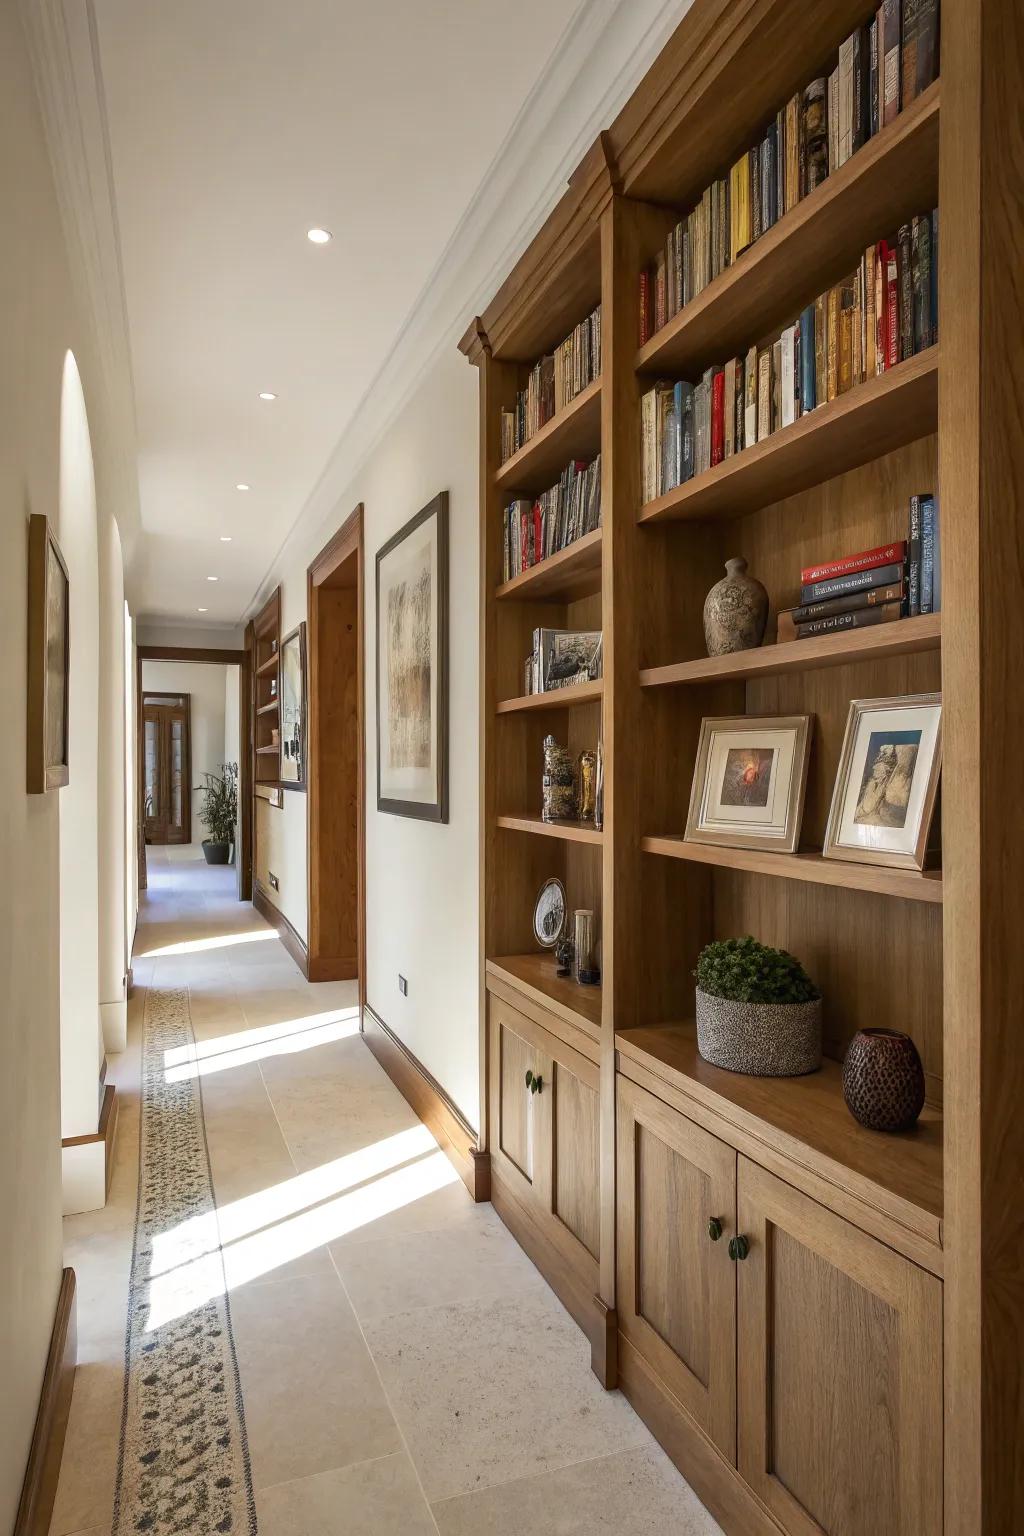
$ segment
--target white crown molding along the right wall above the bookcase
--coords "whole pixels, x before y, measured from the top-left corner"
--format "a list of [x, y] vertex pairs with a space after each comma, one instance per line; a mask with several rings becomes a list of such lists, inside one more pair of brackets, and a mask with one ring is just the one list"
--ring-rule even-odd
[[582, 0], [270, 561], [246, 617], [276, 585], [290, 553], [318, 547], [330, 533], [362, 464], [444, 350], [459, 343], [494, 296], [691, 3]]

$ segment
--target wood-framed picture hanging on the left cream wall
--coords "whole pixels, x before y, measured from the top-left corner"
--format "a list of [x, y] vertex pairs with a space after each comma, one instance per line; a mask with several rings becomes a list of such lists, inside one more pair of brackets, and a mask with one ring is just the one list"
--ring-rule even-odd
[[46, 794], [71, 782], [71, 581], [43, 513], [29, 518], [28, 614], [26, 786]]

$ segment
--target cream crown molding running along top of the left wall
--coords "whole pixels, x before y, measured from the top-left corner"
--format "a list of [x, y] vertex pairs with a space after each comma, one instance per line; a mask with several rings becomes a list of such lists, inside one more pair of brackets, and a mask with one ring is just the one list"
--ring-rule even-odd
[[92, 382], [101, 392], [109, 422], [114, 516], [127, 570], [141, 533], [135, 387], [95, 14], [92, 0], [20, 0], [20, 15], [68, 264], [95, 359], [86, 390]]

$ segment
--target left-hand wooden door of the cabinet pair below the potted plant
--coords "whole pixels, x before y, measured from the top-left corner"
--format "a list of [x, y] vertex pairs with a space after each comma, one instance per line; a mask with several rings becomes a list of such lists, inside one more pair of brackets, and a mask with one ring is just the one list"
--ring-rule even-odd
[[617, 1100], [619, 1327], [732, 1459], [735, 1152], [625, 1077]]

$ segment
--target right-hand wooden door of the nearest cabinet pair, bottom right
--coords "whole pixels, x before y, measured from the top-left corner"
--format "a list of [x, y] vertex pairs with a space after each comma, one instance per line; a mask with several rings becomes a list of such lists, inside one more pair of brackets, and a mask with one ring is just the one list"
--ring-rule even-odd
[[792, 1536], [943, 1528], [943, 1286], [740, 1158], [738, 1468]]

